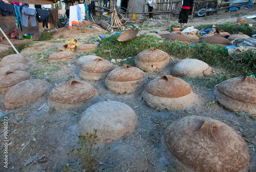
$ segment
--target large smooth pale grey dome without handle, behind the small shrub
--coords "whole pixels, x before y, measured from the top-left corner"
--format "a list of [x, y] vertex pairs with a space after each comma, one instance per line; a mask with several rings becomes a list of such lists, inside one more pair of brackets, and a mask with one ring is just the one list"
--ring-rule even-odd
[[98, 144], [110, 143], [133, 132], [138, 118], [133, 109], [118, 101], [103, 101], [90, 106], [77, 122], [80, 135], [97, 130]]

